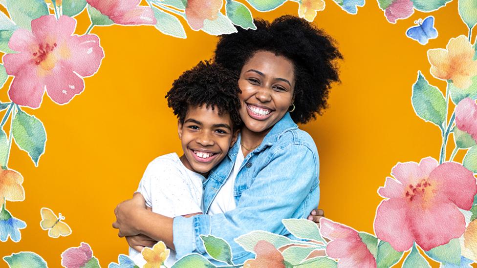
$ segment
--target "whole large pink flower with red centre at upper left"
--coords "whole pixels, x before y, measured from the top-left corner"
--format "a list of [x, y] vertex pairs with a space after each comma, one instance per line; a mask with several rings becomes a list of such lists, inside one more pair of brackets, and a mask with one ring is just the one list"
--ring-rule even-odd
[[8, 96], [19, 105], [40, 107], [45, 91], [59, 104], [68, 103], [85, 88], [82, 77], [98, 71], [104, 58], [96, 35], [72, 35], [76, 20], [43, 16], [31, 22], [31, 32], [16, 30], [8, 46], [20, 53], [3, 56], [9, 75], [15, 76]]

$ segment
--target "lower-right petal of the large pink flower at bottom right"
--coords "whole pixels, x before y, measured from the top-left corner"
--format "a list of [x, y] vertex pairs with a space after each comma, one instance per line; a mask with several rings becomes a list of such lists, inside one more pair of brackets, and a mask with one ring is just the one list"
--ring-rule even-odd
[[457, 206], [450, 202], [431, 203], [430, 206], [415, 206], [408, 210], [405, 224], [412, 230], [417, 245], [426, 251], [449, 243], [465, 231], [464, 215]]

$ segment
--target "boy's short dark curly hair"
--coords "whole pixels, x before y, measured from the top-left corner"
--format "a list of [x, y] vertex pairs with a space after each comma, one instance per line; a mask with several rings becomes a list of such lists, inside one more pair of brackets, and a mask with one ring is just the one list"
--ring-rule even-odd
[[239, 116], [238, 73], [217, 63], [199, 62], [194, 68], [182, 73], [167, 92], [167, 104], [181, 123], [190, 106], [217, 107], [218, 114], [230, 114], [233, 129], [242, 123]]

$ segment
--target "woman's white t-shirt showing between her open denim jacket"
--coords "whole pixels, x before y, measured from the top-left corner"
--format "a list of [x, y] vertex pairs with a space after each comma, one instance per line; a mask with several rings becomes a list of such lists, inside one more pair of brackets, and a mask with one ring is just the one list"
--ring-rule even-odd
[[237, 207], [237, 205], [235, 205], [234, 185], [237, 174], [239, 173], [240, 165], [242, 165], [244, 159], [242, 148], [239, 148], [232, 172], [230, 172], [225, 184], [220, 190], [218, 190], [216, 197], [210, 204], [207, 214], [214, 215], [225, 213]]

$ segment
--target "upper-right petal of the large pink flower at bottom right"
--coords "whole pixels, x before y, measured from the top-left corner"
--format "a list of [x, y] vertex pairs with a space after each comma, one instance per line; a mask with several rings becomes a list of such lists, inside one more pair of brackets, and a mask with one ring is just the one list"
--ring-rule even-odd
[[476, 178], [464, 166], [446, 162], [439, 165], [429, 175], [429, 183], [436, 183], [438, 193], [464, 210], [470, 210], [477, 194]]

